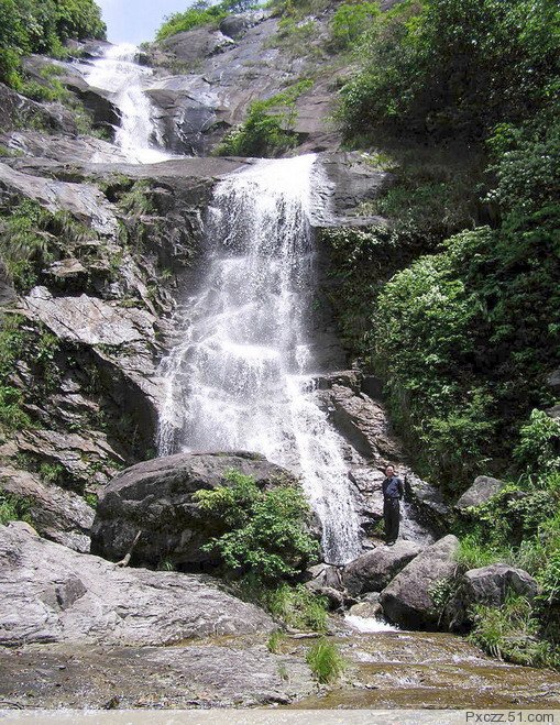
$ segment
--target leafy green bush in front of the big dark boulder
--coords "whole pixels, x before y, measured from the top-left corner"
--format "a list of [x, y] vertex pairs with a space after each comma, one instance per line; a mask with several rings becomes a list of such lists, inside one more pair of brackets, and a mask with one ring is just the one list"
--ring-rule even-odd
[[238, 574], [274, 584], [301, 572], [319, 547], [307, 527], [309, 507], [289, 485], [261, 491], [254, 479], [238, 471], [226, 475], [228, 486], [198, 491], [202, 512], [218, 518], [223, 534], [206, 545], [217, 550]]

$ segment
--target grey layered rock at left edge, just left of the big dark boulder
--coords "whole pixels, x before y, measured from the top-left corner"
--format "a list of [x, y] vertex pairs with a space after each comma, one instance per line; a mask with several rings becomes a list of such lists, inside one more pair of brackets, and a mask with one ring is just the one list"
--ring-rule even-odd
[[95, 512], [81, 496], [8, 465], [0, 465], [0, 488], [29, 502], [29, 515], [41, 536], [80, 553], [89, 551]]

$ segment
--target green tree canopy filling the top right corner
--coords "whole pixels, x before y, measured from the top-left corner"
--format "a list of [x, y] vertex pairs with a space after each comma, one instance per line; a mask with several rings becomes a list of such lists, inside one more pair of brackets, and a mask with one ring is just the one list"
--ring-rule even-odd
[[350, 133], [378, 123], [480, 134], [559, 91], [556, 0], [405, 0], [362, 36], [342, 90]]

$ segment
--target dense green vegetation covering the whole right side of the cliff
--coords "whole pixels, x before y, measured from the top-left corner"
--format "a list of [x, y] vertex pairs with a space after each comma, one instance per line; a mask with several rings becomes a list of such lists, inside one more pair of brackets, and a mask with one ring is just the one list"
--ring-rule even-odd
[[323, 234], [344, 339], [422, 475], [455, 496], [474, 474], [512, 482], [461, 524], [461, 563], [513, 563], [540, 594], [479, 607], [472, 636], [558, 666], [560, 425], [542, 409], [560, 363], [560, 10], [405, 0], [354, 53], [339, 118], [395, 182], [363, 209], [388, 226]]

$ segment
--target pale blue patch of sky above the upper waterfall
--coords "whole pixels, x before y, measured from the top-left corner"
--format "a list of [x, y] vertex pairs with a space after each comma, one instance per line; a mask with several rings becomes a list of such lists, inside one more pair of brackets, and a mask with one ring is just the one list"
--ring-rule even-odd
[[96, 0], [111, 43], [153, 41], [165, 15], [183, 12], [191, 0]]

